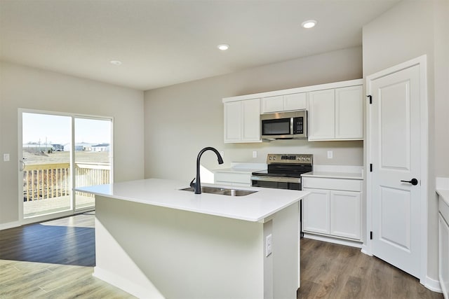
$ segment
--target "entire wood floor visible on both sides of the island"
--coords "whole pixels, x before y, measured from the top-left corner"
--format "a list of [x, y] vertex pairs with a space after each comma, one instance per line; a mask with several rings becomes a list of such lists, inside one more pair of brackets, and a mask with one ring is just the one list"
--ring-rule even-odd
[[[93, 213], [86, 213], [0, 230], [0, 299], [135, 298], [92, 276], [94, 218]], [[297, 298], [425, 299], [443, 295], [360, 249], [302, 239]]]

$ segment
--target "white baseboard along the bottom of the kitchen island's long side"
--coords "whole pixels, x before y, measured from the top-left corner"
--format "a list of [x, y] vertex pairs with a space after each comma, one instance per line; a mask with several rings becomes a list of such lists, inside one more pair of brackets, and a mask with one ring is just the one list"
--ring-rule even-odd
[[102, 281], [111, 284], [112, 286], [116, 286], [117, 288], [121, 288], [123, 291], [134, 295], [137, 298], [154, 298], [154, 299], [163, 299], [163, 295], [157, 291], [156, 288], [144, 288], [138, 284], [135, 284], [133, 281], [126, 279], [125, 277], [116, 275], [107, 270], [103, 270], [99, 267], [93, 268], [93, 277], [101, 279]]

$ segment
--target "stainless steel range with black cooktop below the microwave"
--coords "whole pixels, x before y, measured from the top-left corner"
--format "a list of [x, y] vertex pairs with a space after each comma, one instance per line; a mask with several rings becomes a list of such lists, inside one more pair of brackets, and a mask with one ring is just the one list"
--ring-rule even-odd
[[267, 170], [253, 172], [253, 187], [301, 190], [301, 174], [313, 171], [314, 155], [279, 154], [267, 155]]

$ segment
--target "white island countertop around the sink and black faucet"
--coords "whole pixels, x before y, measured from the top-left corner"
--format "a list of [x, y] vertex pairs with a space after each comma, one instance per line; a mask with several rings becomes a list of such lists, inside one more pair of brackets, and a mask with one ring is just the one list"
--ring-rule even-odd
[[[208, 183], [201, 185], [232, 188]], [[140, 202], [159, 207], [254, 222], [263, 221], [264, 218], [288, 207], [309, 194], [307, 191], [299, 190], [252, 187], [239, 187], [239, 189], [243, 190], [258, 191], [246, 196], [227, 196], [210, 193], [194, 194], [191, 191], [178, 190], [187, 187], [189, 187], [189, 182], [145, 179], [82, 187], [75, 190], [129, 202]]]

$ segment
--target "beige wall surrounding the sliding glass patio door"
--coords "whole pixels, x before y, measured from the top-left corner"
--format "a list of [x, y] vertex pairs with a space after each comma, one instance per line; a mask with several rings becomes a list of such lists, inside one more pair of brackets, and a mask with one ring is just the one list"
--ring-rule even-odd
[[0, 227], [18, 221], [19, 108], [113, 117], [114, 181], [143, 178], [142, 91], [0, 62]]

